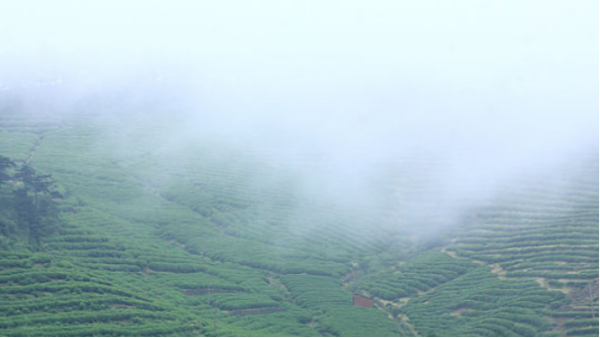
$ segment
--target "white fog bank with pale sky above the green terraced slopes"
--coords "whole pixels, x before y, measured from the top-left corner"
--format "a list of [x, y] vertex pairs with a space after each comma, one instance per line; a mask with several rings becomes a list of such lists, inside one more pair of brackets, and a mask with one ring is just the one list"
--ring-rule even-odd
[[2, 0], [0, 91], [65, 111], [127, 93], [119, 114], [155, 105], [181, 120], [162, 138], [172, 151], [226, 143], [293, 173], [306, 196], [348, 208], [382, 203], [374, 182], [414, 166], [429, 178], [411, 185], [421, 202], [385, 203], [411, 219], [428, 216], [425, 203], [452, 223], [498, 186], [594, 151], [599, 9]]

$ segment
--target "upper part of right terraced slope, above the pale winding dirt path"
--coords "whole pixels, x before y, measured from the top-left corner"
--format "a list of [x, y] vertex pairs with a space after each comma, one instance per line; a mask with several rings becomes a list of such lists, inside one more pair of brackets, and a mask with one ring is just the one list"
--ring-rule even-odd
[[597, 336], [598, 160], [579, 159], [573, 176], [556, 175], [525, 192], [507, 193], [496, 208], [466, 227], [449, 252], [484, 262], [501, 279], [532, 279], [565, 294], [565, 301], [554, 303], [546, 314], [559, 323], [557, 333]]

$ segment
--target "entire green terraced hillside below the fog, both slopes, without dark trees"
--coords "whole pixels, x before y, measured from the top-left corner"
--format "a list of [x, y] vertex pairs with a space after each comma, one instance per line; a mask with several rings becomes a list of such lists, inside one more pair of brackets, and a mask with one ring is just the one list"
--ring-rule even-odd
[[[0, 105], [0, 154], [65, 195], [39, 248], [2, 241], [0, 336], [599, 333], [596, 154], [418, 240], [394, 203], [348, 208], [227, 140], [179, 143], [176, 115], [85, 106], [66, 117]], [[427, 175], [373, 189], [433, 210], [414, 195]], [[353, 293], [376, 308], [353, 307]]]

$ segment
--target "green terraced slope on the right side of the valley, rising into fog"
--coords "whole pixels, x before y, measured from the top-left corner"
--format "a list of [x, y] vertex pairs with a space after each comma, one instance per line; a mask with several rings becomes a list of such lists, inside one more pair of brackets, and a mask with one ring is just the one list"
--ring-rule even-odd
[[596, 162], [582, 156], [568, 175], [507, 186], [492, 206], [467, 215], [440, 251], [355, 287], [424, 335], [597, 336]]

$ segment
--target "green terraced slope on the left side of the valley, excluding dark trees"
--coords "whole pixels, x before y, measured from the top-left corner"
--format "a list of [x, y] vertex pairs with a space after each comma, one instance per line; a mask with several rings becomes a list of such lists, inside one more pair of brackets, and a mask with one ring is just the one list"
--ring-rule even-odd
[[[41, 248], [7, 239], [14, 245], [1, 262], [3, 336], [320, 336], [365, 333], [373, 321], [379, 324], [371, 335], [399, 334], [385, 313], [354, 308], [341, 287], [352, 257], [371, 250], [346, 240], [351, 234], [331, 239], [333, 230], [325, 229], [310, 250], [302, 241], [277, 243], [277, 234], [261, 233], [276, 229], [285, 209], [269, 216], [271, 223], [244, 227], [278, 206], [242, 209], [247, 198], [231, 192], [240, 181], [228, 181], [218, 163], [209, 166], [215, 181], [199, 178], [214, 194], [197, 196], [210, 199], [204, 205], [178, 184], [162, 191], [142, 179], [145, 170], [132, 171], [129, 162], [143, 160], [139, 154], [151, 145], [122, 154], [102, 145], [113, 121], [48, 119], [50, 128], [6, 113], [1, 124], [5, 153], [52, 174], [66, 196], [63, 225]], [[244, 232], [228, 231], [233, 222]], [[335, 311], [301, 304], [281, 282], [282, 275], [305, 274], [329, 281], [319, 290], [337, 299]]]

